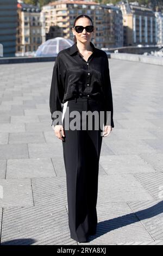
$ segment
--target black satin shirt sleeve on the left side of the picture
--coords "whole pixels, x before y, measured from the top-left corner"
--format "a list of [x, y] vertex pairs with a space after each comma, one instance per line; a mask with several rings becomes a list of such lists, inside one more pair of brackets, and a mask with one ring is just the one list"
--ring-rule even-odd
[[53, 67], [53, 75], [51, 82], [51, 90], [49, 95], [49, 107], [51, 111], [52, 125], [62, 125], [62, 99], [64, 97], [64, 86], [61, 80], [61, 64], [59, 62], [59, 56], [55, 59]]

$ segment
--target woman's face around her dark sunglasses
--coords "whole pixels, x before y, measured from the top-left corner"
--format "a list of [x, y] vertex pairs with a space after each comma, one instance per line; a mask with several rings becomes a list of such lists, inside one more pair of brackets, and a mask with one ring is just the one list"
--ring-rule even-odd
[[[90, 26], [92, 25], [92, 22], [87, 19], [86, 17], [80, 18], [76, 21], [76, 25], [75, 26]], [[73, 35], [76, 36], [76, 39], [79, 40], [80, 42], [86, 42], [86, 41], [90, 41], [92, 36], [93, 36], [93, 32], [86, 32], [85, 28], [83, 29], [83, 32], [81, 33], [77, 33], [76, 30], [74, 28], [72, 28], [72, 32]]]

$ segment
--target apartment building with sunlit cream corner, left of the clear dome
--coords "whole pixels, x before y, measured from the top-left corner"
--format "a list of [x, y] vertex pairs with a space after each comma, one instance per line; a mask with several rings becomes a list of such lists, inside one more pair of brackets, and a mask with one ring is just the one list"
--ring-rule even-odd
[[39, 7], [17, 3], [16, 52], [36, 51], [42, 43], [42, 28]]

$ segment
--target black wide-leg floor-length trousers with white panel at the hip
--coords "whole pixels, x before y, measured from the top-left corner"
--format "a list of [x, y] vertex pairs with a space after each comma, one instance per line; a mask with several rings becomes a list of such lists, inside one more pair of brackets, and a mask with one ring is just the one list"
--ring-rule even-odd
[[[103, 138], [102, 128], [95, 130], [95, 121], [92, 129], [88, 129], [89, 121], [82, 118], [82, 112], [101, 110], [101, 101], [87, 98], [67, 101], [62, 107], [64, 129], [66, 117], [69, 115], [70, 124], [76, 117], [74, 115], [70, 118], [70, 113], [72, 111], [80, 113], [81, 129], [73, 130], [70, 126], [65, 130], [65, 141], [62, 141], [66, 170], [68, 224], [71, 238], [79, 242], [85, 242], [89, 235], [96, 234], [99, 156]], [[79, 118], [76, 120], [79, 121]], [[82, 121], [86, 121], [86, 130], [82, 130]]]

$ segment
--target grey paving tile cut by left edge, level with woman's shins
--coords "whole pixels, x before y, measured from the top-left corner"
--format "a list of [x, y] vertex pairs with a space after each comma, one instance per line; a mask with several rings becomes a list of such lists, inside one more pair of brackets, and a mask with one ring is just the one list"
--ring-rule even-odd
[[1, 179], [3, 197], [0, 206], [27, 206], [33, 205], [33, 194], [30, 179]]

